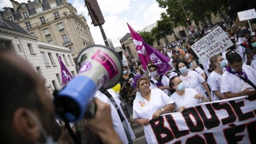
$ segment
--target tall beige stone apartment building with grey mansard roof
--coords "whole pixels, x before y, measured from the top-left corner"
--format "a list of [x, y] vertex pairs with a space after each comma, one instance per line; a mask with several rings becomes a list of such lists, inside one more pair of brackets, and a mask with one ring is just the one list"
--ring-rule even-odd
[[85, 47], [94, 44], [87, 20], [66, 0], [35, 0], [5, 7], [2, 17], [16, 22], [38, 40], [64, 46], [76, 58]]

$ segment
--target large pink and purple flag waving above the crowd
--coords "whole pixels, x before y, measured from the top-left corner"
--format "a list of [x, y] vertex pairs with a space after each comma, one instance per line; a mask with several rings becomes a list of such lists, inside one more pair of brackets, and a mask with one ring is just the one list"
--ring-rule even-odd
[[144, 70], [147, 69], [150, 60], [157, 66], [159, 74], [165, 74], [170, 70], [171, 66], [168, 64], [170, 58], [145, 43], [141, 35], [134, 31], [128, 23], [127, 25]]

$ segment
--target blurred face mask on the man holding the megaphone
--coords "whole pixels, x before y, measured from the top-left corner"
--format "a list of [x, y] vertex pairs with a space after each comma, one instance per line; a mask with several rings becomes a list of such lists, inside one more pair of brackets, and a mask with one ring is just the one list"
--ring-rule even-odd
[[[45, 144], [57, 144], [57, 142], [55, 142], [53, 140], [53, 137], [50, 135], [47, 135], [44, 127], [42, 126], [41, 122], [36, 118], [36, 116], [30, 111], [27, 110], [27, 114], [29, 115], [29, 117], [36, 123], [36, 125], [39, 127], [44, 139], [45, 139]], [[35, 142], [35, 143], [40, 143], [40, 142]]]

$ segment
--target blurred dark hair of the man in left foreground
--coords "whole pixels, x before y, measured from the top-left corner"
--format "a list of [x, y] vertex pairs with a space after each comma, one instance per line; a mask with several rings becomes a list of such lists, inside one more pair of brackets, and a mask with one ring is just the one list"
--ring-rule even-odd
[[36, 81], [21, 68], [4, 57], [8, 52], [0, 52], [0, 143], [11, 143], [13, 114], [19, 107], [40, 109], [42, 102], [37, 94]]

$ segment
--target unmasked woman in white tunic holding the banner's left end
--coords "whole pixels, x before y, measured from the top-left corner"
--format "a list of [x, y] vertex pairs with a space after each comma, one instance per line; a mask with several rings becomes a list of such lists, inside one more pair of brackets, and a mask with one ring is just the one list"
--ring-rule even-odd
[[137, 80], [137, 95], [133, 101], [134, 122], [144, 126], [144, 133], [148, 143], [152, 141], [149, 126], [150, 119], [157, 119], [161, 114], [170, 113], [175, 108], [173, 100], [160, 89], [149, 89], [147, 78], [141, 77]]

